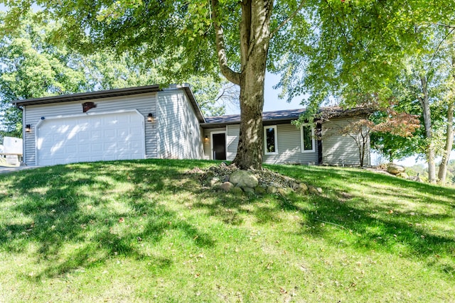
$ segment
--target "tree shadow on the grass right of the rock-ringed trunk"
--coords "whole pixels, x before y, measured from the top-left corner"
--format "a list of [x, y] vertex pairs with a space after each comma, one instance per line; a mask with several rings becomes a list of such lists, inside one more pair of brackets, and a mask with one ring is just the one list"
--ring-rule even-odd
[[[348, 238], [348, 245], [360, 251], [382, 251], [422, 260], [430, 260], [434, 256], [453, 260], [455, 235], [427, 225], [433, 221], [451, 226], [450, 222], [455, 221], [454, 189], [419, 184], [373, 172], [303, 166], [290, 167], [288, 171], [289, 167], [275, 165], [274, 169], [276, 167], [296, 180], [323, 187], [324, 194], [235, 197], [230, 193], [216, 192], [213, 193], [213, 203], [194, 206], [208, 209], [210, 216], [218, 216], [223, 222], [235, 225], [241, 224], [245, 216], [252, 216], [257, 224], [273, 224], [282, 221], [279, 215], [282, 211], [300, 214], [304, 218], [301, 233], [323, 238], [328, 243], [339, 243], [340, 239]], [[326, 184], [321, 174], [330, 175], [325, 179]], [[307, 180], [317, 180], [318, 183], [309, 183]], [[365, 186], [385, 184], [385, 187], [390, 188], [378, 187], [371, 190], [377, 197], [385, 197], [388, 202], [372, 201], [352, 189], [350, 194], [346, 194], [349, 182], [358, 182], [355, 185], [361, 182]], [[331, 187], [332, 184], [335, 186]], [[410, 188], [410, 192], [402, 192], [403, 188]], [[412, 199], [414, 197], [417, 199]], [[407, 202], [400, 202], [401, 199], [407, 199], [419, 211], [406, 208]], [[432, 205], [439, 211], [435, 211]], [[424, 262], [444, 274], [455, 275], [455, 262]]]

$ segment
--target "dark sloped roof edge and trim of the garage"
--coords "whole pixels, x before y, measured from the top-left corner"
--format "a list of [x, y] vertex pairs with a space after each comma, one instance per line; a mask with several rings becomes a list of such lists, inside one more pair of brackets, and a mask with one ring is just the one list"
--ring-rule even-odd
[[191, 105], [198, 117], [199, 122], [204, 122], [205, 118], [200, 111], [200, 107], [196, 98], [194, 97], [193, 91], [189, 84], [173, 84], [166, 89], [161, 89], [159, 85], [148, 85], [144, 87], [127, 87], [124, 89], [109, 89], [97, 92], [82, 92], [77, 94], [65, 94], [59, 96], [50, 96], [42, 98], [32, 98], [32, 99], [23, 99], [23, 100], [14, 100], [11, 101], [15, 106], [26, 106], [26, 105], [38, 105], [38, 104], [52, 104], [60, 102], [70, 102], [70, 101], [83, 101], [83, 100], [92, 100], [92, 99], [102, 99], [109, 97], [119, 97], [119, 96], [129, 96], [133, 94], [145, 94], [149, 92], [161, 92], [172, 89], [183, 89], [190, 99]]

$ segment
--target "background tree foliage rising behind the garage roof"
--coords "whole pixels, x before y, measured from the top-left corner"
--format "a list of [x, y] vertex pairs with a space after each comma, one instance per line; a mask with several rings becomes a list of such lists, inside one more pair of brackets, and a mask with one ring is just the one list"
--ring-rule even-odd
[[[55, 23], [36, 22], [36, 18], [35, 13], [25, 14], [14, 31], [7, 31], [5, 16], [0, 16], [1, 136], [22, 135], [21, 111], [10, 103], [16, 99], [166, 83], [158, 71], [129, 55], [102, 50], [82, 55], [51, 43]], [[224, 113], [224, 103], [232, 99], [226, 97], [232, 89], [224, 88], [225, 82], [210, 75], [189, 77], [188, 82], [204, 114]]]

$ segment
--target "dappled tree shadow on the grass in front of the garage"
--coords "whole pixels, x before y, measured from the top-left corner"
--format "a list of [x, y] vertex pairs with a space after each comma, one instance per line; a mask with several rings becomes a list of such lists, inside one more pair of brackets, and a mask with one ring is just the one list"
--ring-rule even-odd
[[155, 267], [168, 268], [171, 260], [150, 257], [141, 245], [159, 246], [171, 231], [195, 247], [215, 245], [210, 235], [151, 199], [185, 191], [174, 183], [188, 165], [191, 161], [96, 162], [9, 176], [0, 205], [7, 205], [11, 217], [0, 227], [0, 249], [30, 253], [33, 243], [36, 263], [45, 264], [33, 280], [91, 268], [117, 255], [153, 258]]

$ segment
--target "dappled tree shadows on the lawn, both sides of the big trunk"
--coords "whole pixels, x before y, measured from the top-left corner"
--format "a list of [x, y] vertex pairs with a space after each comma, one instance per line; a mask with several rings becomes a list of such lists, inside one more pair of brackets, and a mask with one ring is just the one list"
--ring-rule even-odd
[[[417, 193], [430, 192], [435, 198], [422, 197], [418, 202], [434, 203], [452, 212], [429, 214], [425, 218], [446, 221], [454, 219], [454, 204], [447, 199], [439, 201], [437, 196], [444, 195], [454, 201], [452, 189], [413, 184], [370, 172], [360, 174], [355, 170], [274, 166], [274, 170], [297, 180], [323, 187], [325, 194], [235, 196], [200, 189], [196, 180], [186, 180], [188, 175], [184, 172], [200, 165], [200, 161], [140, 160], [17, 172], [14, 177], [8, 177], [9, 182], [2, 188], [6, 194], [0, 196], [0, 206], [8, 205], [3, 209], [11, 214], [6, 225], [0, 227], [0, 249], [24, 252], [30, 249], [30, 243], [35, 243], [36, 263], [45, 263], [33, 278], [36, 280], [64, 275], [80, 267], [91, 268], [117, 255], [137, 260], [153, 258], [152, 263], [157, 267], [168, 268], [172, 266], [171, 260], [146, 255], [141, 244], [159, 246], [168, 233], [177, 232], [196, 248], [216, 245], [208, 233], [161, 203], [164, 197], [190, 193], [197, 198], [188, 202], [188, 206], [204, 209], [209, 216], [232, 226], [242, 226], [245, 218], [254, 219], [257, 224], [281, 221], [280, 214], [284, 211], [304, 218], [302, 234], [335, 243], [347, 235], [349, 245], [358, 250], [382, 250], [409, 258], [453, 255], [455, 251], [453, 236], [442, 236], [419, 226], [422, 214], [412, 216], [404, 211], [387, 214], [390, 205], [368, 201], [355, 191], [348, 195], [344, 192], [351, 180], [365, 186], [375, 182], [390, 184], [391, 189], [385, 192], [380, 187], [374, 189], [377, 194], [390, 194], [390, 197], [400, 197], [401, 193], [394, 193], [393, 189], [405, 186]], [[321, 226], [323, 222], [326, 226]], [[428, 264], [454, 275], [453, 263]]]

